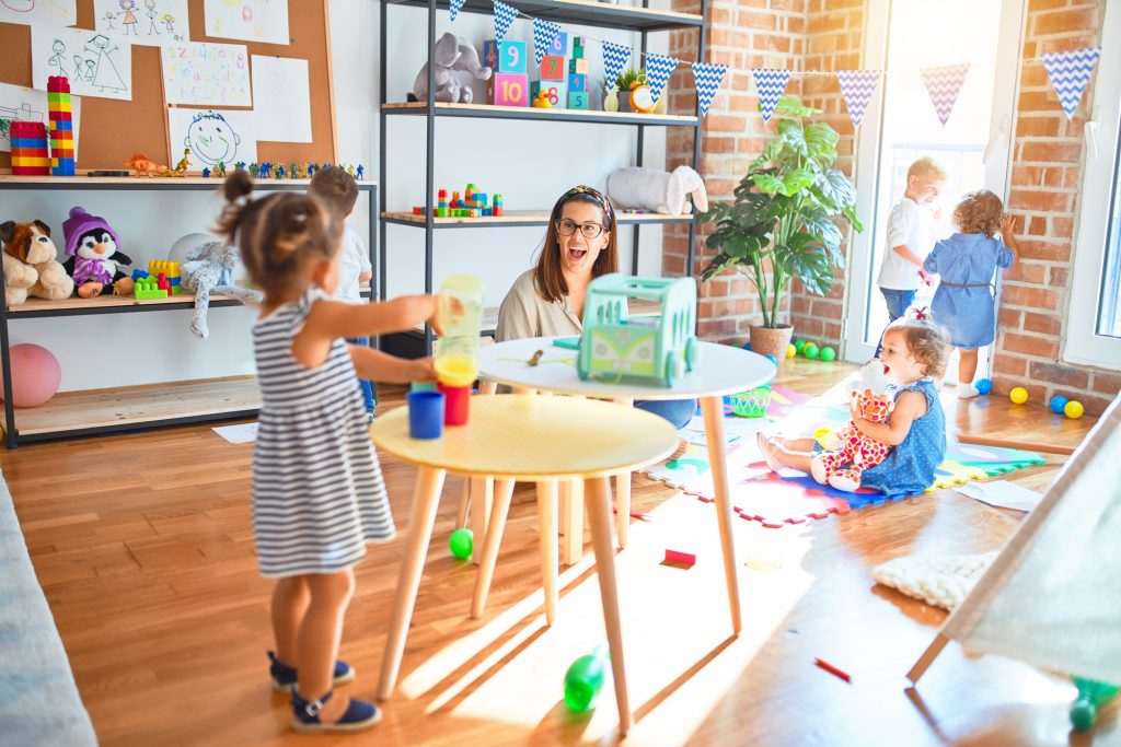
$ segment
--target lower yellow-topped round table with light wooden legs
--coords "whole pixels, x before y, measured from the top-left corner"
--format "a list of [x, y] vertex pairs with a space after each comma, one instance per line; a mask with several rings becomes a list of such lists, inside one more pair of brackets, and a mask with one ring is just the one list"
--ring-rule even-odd
[[[600, 575], [620, 729], [626, 732], [631, 723], [631, 713], [623, 667], [608, 477], [620, 470], [654, 464], [673, 452], [677, 442], [673, 427], [649, 412], [633, 409], [620, 411], [609, 402], [503, 395], [474, 398], [470, 422], [445, 428], [439, 439], [409, 438], [408, 408], [398, 408], [380, 417], [371, 426], [370, 437], [381, 451], [419, 468], [378, 697], [389, 698], [397, 684], [445, 474], [493, 476], [500, 480], [532, 480], [538, 484], [541, 575], [545, 613], [550, 624], [557, 605], [556, 480], [581, 478], [584, 480], [592, 544]], [[501, 527], [506, 523], [508, 507], [508, 501], [494, 503], [491, 526]], [[497, 557], [500, 535], [501, 531], [488, 533], [484, 558], [489, 554], [493, 561]], [[493, 570], [493, 562], [484, 562], [482, 568]], [[490, 578], [484, 578], [481, 569], [475, 583], [476, 601], [480, 591], [484, 592], [489, 587]]]

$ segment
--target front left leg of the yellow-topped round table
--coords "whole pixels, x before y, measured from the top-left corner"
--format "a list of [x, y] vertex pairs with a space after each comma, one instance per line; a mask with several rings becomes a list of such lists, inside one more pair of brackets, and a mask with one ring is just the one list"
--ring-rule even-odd
[[381, 682], [378, 685], [378, 698], [381, 700], [392, 695], [397, 687], [397, 674], [400, 672], [401, 655], [405, 653], [405, 638], [409, 622], [413, 619], [417, 589], [420, 588], [420, 571], [424, 570], [424, 559], [428, 552], [428, 543], [432, 542], [432, 527], [436, 522], [439, 492], [444, 487], [444, 474], [443, 469], [430, 467], [420, 467], [417, 471], [413, 513], [409, 516], [409, 535], [406, 540], [405, 557], [401, 559], [401, 575], [397, 581], [393, 616], [386, 638], [386, 655], [381, 660]]

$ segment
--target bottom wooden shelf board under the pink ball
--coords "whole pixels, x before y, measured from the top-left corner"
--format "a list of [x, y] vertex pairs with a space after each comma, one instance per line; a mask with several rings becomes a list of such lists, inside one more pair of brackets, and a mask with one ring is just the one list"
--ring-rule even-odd
[[63, 392], [16, 414], [19, 442], [141, 427], [249, 418], [261, 407], [256, 376]]

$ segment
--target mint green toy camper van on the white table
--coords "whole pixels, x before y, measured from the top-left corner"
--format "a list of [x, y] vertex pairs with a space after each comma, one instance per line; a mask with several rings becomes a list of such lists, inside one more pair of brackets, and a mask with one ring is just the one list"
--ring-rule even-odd
[[[632, 298], [655, 301], [661, 314], [630, 318]], [[584, 301], [584, 334], [576, 371], [581, 379], [676, 384], [697, 362], [697, 289], [692, 278], [596, 278]]]

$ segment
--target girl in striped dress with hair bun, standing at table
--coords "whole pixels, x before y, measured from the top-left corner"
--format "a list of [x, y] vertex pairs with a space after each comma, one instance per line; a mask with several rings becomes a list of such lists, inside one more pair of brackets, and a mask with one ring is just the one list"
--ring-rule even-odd
[[272, 684], [290, 690], [297, 730], [362, 729], [377, 723], [380, 711], [332, 698], [332, 684], [354, 679], [337, 661], [353, 566], [367, 543], [393, 538], [393, 519], [356, 374], [390, 383], [435, 376], [430, 358], [404, 361], [343, 339], [435, 325], [436, 298], [331, 300], [345, 216], [297, 193], [250, 199], [252, 188], [244, 171], [226, 179], [217, 230], [238, 242], [265, 293], [253, 327], [261, 387], [253, 534], [261, 575], [277, 579]]

